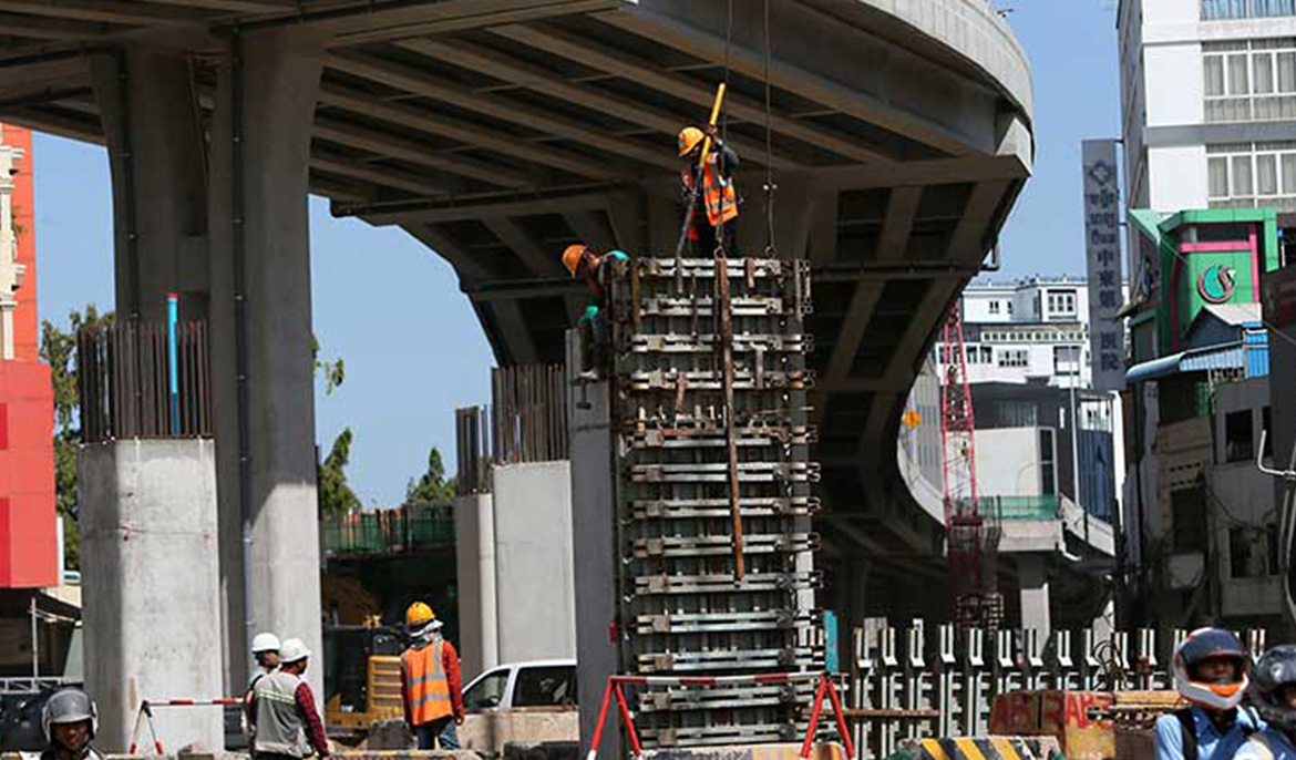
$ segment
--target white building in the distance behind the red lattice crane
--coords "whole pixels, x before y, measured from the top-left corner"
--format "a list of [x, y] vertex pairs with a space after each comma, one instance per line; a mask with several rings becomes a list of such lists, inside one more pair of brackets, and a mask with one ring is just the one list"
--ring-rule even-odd
[[[976, 280], [963, 291], [969, 383], [1090, 383], [1089, 289], [1082, 278]], [[937, 345], [937, 362], [945, 363]]]

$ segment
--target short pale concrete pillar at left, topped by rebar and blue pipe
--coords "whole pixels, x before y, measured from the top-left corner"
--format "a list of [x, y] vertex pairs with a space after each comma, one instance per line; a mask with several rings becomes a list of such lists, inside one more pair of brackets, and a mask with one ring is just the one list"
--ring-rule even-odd
[[[117, 441], [82, 449], [86, 687], [97, 747], [124, 752], [145, 699], [214, 699], [222, 683], [216, 480], [211, 441]], [[154, 716], [162, 747], [219, 752], [219, 707]], [[146, 741], [146, 737], [145, 737]]]

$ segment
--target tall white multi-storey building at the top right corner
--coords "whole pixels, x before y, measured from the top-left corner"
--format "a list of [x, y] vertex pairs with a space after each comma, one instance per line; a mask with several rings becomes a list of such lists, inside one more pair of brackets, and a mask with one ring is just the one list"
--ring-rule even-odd
[[1122, 0], [1118, 26], [1129, 208], [1296, 210], [1296, 0]]

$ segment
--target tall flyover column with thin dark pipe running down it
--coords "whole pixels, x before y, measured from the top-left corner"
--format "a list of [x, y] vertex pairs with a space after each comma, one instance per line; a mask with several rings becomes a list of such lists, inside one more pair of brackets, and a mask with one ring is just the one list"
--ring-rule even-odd
[[[244, 682], [257, 630], [323, 654], [306, 204], [323, 61], [297, 35], [236, 35], [213, 117], [213, 389], [231, 687]], [[308, 677], [323, 698], [320, 659]]]

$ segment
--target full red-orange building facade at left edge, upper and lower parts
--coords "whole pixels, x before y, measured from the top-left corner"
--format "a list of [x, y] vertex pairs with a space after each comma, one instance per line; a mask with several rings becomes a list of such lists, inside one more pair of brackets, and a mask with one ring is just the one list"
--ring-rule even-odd
[[26, 265], [14, 313], [14, 361], [0, 361], [0, 588], [58, 585], [54, 520], [54, 393], [39, 363], [36, 222], [31, 131], [0, 125], [0, 143], [23, 150], [13, 176], [18, 262]]

